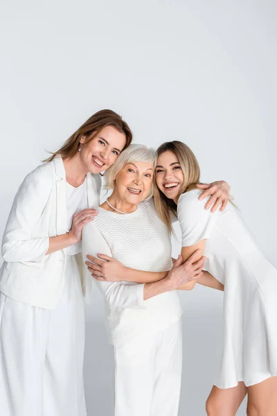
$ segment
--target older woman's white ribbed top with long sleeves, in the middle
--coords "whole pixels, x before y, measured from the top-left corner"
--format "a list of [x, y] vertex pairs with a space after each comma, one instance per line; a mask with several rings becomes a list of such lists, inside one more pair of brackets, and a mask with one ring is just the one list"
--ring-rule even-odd
[[[166, 271], [172, 268], [171, 242], [154, 202], [142, 202], [132, 214], [98, 207], [99, 214], [82, 232], [82, 252], [104, 253], [130, 268]], [[96, 284], [105, 297], [107, 329], [112, 344], [123, 345], [141, 333], [161, 331], [181, 316], [177, 291], [143, 301], [143, 284], [129, 281]]]

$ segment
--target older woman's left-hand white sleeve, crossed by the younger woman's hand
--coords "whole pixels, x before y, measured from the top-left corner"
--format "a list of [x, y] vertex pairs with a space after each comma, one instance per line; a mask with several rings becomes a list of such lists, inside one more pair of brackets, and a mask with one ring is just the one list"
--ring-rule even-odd
[[[87, 254], [97, 257], [98, 253], [112, 257], [109, 245], [93, 223], [89, 223], [82, 229], [82, 257], [87, 261]], [[87, 273], [91, 279], [89, 270]], [[144, 309], [143, 288], [144, 284], [134, 284], [127, 281], [99, 281], [94, 279], [100, 292], [105, 297], [105, 302], [110, 309], [134, 308]]]

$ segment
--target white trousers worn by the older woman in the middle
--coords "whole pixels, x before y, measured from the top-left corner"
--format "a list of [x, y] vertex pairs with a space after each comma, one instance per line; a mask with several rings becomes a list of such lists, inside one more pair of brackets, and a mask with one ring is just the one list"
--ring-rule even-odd
[[114, 348], [116, 416], [177, 416], [181, 389], [181, 319], [166, 331]]

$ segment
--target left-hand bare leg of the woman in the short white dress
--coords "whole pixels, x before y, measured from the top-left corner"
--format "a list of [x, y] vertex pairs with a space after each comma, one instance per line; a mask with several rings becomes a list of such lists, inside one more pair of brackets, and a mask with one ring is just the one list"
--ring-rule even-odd
[[246, 395], [247, 388], [242, 381], [233, 388], [223, 389], [214, 385], [206, 401], [207, 415], [235, 416]]

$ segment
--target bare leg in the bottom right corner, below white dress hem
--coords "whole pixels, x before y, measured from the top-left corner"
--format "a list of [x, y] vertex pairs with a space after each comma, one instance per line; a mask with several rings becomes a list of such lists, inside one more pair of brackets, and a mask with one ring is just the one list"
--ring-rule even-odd
[[277, 376], [251, 385], [248, 390], [248, 416], [277, 415]]

